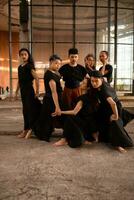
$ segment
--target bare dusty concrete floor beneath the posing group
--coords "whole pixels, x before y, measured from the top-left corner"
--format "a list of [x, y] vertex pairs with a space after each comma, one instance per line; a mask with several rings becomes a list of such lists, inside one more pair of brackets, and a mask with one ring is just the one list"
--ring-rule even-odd
[[[133, 110], [133, 109], [132, 109]], [[0, 200], [133, 200], [134, 149], [19, 139], [21, 103], [0, 102]], [[134, 120], [126, 127], [134, 140]]]

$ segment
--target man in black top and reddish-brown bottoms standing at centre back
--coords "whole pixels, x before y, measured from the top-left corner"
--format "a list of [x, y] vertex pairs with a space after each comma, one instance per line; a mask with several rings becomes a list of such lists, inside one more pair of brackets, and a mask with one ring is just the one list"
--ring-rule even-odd
[[81, 95], [80, 82], [83, 81], [87, 72], [86, 69], [77, 64], [78, 50], [71, 48], [68, 51], [70, 62], [63, 65], [59, 69], [59, 73], [65, 81], [65, 87], [63, 91], [63, 102], [67, 109], [73, 108], [75, 99]]

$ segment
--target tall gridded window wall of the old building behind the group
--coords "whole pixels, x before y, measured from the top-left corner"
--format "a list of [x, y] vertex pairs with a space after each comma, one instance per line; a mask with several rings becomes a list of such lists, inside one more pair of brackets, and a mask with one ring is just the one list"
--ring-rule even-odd
[[29, 48], [40, 76], [49, 56], [68, 58], [79, 50], [79, 63], [92, 53], [99, 68], [99, 52], [107, 50], [114, 68], [113, 86], [134, 94], [133, 0], [0, 0], [0, 86], [16, 88], [18, 51]]

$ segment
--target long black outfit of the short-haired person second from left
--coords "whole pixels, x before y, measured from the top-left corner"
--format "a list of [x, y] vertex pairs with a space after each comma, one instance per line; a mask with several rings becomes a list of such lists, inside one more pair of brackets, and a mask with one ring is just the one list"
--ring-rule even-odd
[[52, 71], [47, 71], [44, 75], [45, 91], [46, 94], [43, 98], [43, 104], [41, 108], [41, 113], [39, 119], [34, 127], [34, 133], [40, 140], [50, 141], [51, 134], [53, 132], [53, 121], [55, 118], [60, 123], [61, 117], [53, 118], [51, 114], [55, 111], [55, 104], [52, 98], [52, 92], [49, 86], [50, 80], [54, 80], [56, 83], [56, 90], [58, 94], [59, 105], [62, 108], [62, 88], [60, 85], [60, 76], [53, 73]]

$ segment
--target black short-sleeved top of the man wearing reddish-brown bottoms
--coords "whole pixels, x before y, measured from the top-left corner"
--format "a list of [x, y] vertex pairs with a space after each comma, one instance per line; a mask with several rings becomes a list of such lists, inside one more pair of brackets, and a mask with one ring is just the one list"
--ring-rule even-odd
[[79, 87], [80, 82], [86, 76], [87, 71], [82, 65], [77, 64], [77, 66], [71, 67], [69, 64], [66, 64], [59, 69], [59, 73], [63, 76], [65, 86], [74, 89]]

